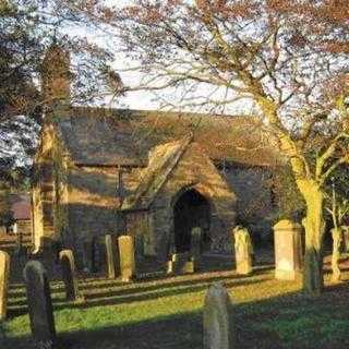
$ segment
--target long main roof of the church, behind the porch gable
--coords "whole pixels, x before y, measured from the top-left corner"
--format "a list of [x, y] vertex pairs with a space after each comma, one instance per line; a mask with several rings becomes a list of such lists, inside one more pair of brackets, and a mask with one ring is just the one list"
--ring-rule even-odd
[[249, 166], [278, 163], [257, 121], [246, 117], [72, 107], [56, 122], [79, 165], [146, 166], [154, 146], [190, 133], [213, 160]]

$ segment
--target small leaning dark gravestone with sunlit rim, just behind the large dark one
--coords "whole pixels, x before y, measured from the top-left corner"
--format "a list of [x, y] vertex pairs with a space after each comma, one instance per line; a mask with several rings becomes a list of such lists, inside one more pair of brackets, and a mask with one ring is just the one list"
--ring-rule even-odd
[[59, 260], [61, 264], [62, 279], [65, 286], [65, 299], [68, 301], [82, 300], [83, 297], [79, 292], [73, 252], [71, 250], [61, 251], [59, 253]]

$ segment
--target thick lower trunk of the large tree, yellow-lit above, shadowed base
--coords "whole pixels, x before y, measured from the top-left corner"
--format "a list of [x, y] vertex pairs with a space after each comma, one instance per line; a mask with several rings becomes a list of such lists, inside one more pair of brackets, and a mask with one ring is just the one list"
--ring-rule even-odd
[[324, 287], [322, 241], [325, 222], [323, 219], [324, 195], [320, 185], [313, 180], [297, 181], [306, 203], [305, 255], [303, 267], [303, 290], [308, 294], [318, 296]]

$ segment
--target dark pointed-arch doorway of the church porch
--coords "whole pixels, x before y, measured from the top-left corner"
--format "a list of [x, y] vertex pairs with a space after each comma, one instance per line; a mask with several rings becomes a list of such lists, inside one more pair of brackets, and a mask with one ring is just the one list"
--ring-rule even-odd
[[185, 191], [173, 206], [176, 252], [190, 251], [191, 230], [201, 227], [203, 243], [209, 237], [210, 208], [208, 201], [196, 190]]

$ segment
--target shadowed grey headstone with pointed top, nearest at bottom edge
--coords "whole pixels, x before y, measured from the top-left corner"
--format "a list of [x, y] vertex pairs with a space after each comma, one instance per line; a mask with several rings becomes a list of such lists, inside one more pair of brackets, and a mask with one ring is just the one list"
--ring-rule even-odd
[[220, 282], [212, 285], [204, 304], [204, 349], [232, 349], [236, 335], [229, 324], [230, 298]]

